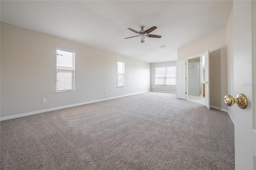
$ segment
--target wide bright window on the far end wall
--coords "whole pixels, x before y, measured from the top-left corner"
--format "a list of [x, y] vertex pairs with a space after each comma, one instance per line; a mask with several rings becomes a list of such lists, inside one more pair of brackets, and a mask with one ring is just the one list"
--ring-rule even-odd
[[176, 67], [156, 67], [156, 85], [176, 85]]

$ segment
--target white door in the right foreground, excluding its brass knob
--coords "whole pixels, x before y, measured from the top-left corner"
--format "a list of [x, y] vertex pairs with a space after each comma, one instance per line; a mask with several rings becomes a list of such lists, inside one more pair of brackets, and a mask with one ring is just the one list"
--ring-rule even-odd
[[[234, 93], [246, 96], [248, 106], [232, 106], [235, 118], [236, 169], [256, 169], [255, 53], [256, 2], [233, 1], [234, 9]], [[229, 108], [228, 108], [229, 109]]]

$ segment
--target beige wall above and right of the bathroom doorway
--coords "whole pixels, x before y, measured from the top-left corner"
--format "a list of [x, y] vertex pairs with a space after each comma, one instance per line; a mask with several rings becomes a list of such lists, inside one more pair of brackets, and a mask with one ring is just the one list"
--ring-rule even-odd
[[178, 60], [186, 59], [209, 49], [210, 62], [210, 105], [228, 109], [223, 102], [227, 87], [227, 44], [226, 26], [178, 49]]

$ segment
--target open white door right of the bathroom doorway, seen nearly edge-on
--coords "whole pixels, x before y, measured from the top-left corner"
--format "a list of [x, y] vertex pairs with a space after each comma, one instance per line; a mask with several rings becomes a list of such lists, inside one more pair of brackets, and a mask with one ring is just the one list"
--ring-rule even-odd
[[205, 76], [205, 106], [210, 109], [210, 74], [209, 74], [209, 50], [204, 53], [204, 76]]

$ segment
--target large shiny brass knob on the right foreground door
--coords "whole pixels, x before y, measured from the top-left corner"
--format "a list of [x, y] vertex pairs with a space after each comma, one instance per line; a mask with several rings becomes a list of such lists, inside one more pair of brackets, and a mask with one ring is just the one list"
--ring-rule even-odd
[[232, 95], [226, 95], [224, 97], [224, 102], [228, 106], [233, 106], [236, 103], [241, 109], [245, 109], [247, 107], [247, 99], [244, 94], [238, 94], [236, 98]]

